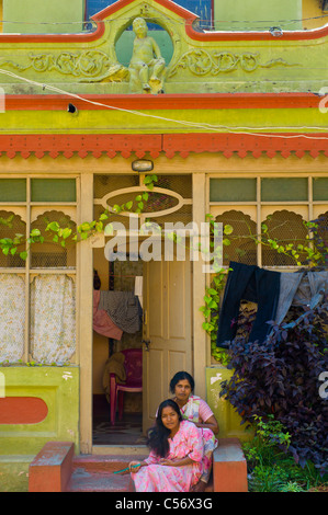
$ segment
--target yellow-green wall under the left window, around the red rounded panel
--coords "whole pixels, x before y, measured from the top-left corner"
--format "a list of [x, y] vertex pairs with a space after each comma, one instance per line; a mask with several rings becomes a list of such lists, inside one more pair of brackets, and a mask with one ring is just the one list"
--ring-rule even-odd
[[9, 366], [0, 371], [5, 397], [36, 397], [48, 408], [47, 416], [36, 424], [0, 425], [0, 458], [35, 456], [52, 440], [73, 442], [78, 454], [79, 368]]

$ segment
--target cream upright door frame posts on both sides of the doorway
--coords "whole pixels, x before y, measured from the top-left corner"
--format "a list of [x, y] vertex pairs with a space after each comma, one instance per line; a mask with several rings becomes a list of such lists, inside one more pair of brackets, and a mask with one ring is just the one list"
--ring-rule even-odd
[[[205, 220], [206, 174], [192, 173], [193, 192], [193, 221], [199, 224]], [[81, 202], [78, 206], [79, 224], [93, 219], [93, 173], [81, 174]], [[92, 453], [92, 298], [93, 298], [93, 249], [88, 240], [78, 245], [78, 363], [80, 366], [80, 453]], [[206, 287], [206, 274], [203, 272], [201, 260], [192, 262], [192, 339], [194, 380], [196, 393], [206, 398], [205, 367], [208, 356], [208, 339], [202, 328], [203, 314], [200, 307]], [[211, 352], [211, 346], [210, 346]]]

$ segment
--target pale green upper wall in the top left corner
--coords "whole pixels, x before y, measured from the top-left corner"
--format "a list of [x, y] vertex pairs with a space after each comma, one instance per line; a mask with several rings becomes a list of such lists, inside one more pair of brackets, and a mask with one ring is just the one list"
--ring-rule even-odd
[[83, 18], [84, 0], [3, 0], [5, 33], [76, 33], [82, 30]]

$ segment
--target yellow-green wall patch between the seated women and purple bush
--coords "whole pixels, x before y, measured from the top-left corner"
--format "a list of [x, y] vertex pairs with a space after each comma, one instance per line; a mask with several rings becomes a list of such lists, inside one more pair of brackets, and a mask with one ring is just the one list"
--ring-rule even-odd
[[239, 438], [241, 442], [251, 439], [252, 433], [240, 425], [241, 417], [234, 407], [224, 398], [219, 397], [220, 382], [229, 379], [233, 375], [224, 366], [213, 366], [205, 369], [206, 374], [206, 401], [211, 407], [219, 426], [218, 438]]

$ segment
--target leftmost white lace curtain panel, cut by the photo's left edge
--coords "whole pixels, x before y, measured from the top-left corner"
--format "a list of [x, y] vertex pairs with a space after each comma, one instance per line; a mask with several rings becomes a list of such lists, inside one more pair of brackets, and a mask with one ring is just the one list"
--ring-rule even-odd
[[16, 362], [24, 353], [25, 279], [0, 274], [0, 362]]

